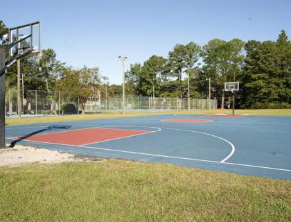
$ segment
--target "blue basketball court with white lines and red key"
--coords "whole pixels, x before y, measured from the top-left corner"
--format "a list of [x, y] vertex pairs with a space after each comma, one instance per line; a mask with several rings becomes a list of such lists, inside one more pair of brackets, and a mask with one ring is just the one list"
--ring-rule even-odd
[[[167, 121], [170, 119], [211, 121]], [[6, 139], [12, 144], [78, 155], [161, 162], [291, 180], [290, 116], [168, 114], [40, 123], [7, 126]]]

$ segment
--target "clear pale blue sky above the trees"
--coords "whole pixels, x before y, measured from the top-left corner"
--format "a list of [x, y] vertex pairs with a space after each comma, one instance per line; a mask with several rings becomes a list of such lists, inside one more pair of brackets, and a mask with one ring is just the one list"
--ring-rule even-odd
[[42, 22], [42, 49], [74, 68], [99, 67], [111, 84], [125, 69], [152, 55], [168, 56], [175, 44], [291, 38], [290, 0], [0, 0], [9, 27]]

